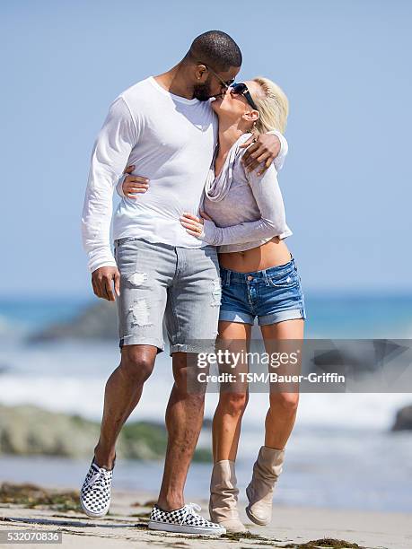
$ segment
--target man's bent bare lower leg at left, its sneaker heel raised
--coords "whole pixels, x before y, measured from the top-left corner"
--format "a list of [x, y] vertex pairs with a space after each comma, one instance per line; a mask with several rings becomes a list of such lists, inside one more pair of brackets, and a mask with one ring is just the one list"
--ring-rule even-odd
[[145, 380], [153, 371], [156, 354], [157, 347], [153, 345], [122, 347], [120, 365], [106, 383], [101, 435], [94, 449], [98, 466], [113, 468], [118, 434], [142, 396]]

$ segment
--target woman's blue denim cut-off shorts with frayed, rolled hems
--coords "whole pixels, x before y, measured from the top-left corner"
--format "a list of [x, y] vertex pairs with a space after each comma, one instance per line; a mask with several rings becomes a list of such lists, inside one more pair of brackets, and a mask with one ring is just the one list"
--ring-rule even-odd
[[284, 265], [252, 273], [238, 273], [220, 267], [222, 304], [219, 320], [254, 324], [276, 324], [306, 318], [301, 277], [294, 257]]

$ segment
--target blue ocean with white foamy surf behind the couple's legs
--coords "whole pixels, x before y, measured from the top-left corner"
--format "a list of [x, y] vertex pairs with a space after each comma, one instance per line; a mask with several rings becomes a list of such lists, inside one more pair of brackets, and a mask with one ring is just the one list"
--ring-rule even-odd
[[[104, 385], [118, 366], [118, 342], [26, 341], [27, 335], [51, 322], [73, 318], [90, 302], [0, 300], [1, 404], [33, 404], [100, 420]], [[306, 309], [308, 338], [412, 338], [412, 295], [306, 292]], [[131, 419], [162, 421], [171, 383], [171, 359], [162, 353]], [[213, 416], [216, 401], [215, 394], [206, 395], [207, 418]], [[396, 411], [408, 404], [408, 393], [302, 393], [276, 502], [411, 511], [412, 431], [390, 431]], [[241, 499], [263, 444], [266, 411], [267, 395], [251, 394], [237, 464]], [[204, 432], [200, 443], [209, 444], [209, 438]], [[0, 481], [78, 486], [87, 467], [84, 460], [3, 456]], [[193, 464], [188, 498], [207, 498], [210, 469], [208, 464]], [[115, 487], [155, 492], [161, 477], [162, 463], [124, 460], [117, 465]]]

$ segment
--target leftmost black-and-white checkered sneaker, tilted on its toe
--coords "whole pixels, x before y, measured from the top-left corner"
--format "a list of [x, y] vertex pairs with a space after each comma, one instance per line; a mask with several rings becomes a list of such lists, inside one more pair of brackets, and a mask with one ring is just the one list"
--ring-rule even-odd
[[[114, 464], [113, 464], [114, 466]], [[110, 488], [113, 469], [108, 471], [94, 463], [84, 479], [80, 491], [80, 505], [83, 511], [92, 518], [104, 517], [110, 508]]]

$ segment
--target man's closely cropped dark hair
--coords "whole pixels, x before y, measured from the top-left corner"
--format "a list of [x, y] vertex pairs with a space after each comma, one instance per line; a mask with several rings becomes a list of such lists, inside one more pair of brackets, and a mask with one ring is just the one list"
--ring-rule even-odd
[[193, 40], [186, 58], [200, 61], [218, 71], [241, 66], [241, 48], [222, 30], [208, 30]]

